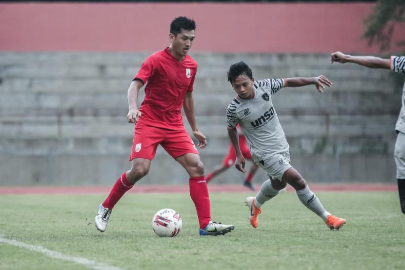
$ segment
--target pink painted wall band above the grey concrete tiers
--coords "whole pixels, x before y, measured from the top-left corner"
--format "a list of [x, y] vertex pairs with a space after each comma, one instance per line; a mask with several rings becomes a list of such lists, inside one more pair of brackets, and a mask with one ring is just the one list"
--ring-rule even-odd
[[[155, 51], [170, 21], [197, 22], [193, 51], [378, 53], [361, 35], [372, 3], [1, 3], [0, 51]], [[404, 39], [405, 24], [394, 40]], [[390, 51], [396, 51], [395, 46]]]

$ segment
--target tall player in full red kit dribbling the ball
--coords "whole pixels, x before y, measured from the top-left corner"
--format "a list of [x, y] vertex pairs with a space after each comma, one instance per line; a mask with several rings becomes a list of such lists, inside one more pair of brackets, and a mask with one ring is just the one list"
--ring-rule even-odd
[[[200, 235], [220, 235], [234, 229], [211, 221], [211, 209], [204, 166], [196, 145], [185, 130], [182, 107], [198, 146], [205, 148], [207, 141], [197, 128], [194, 117], [193, 84], [197, 63], [187, 55], [195, 38], [196, 23], [178, 17], [170, 24], [170, 46], [150, 55], [128, 89], [129, 123], [135, 123], [130, 170], [122, 173], [110, 194], [100, 204], [95, 223], [105, 231], [111, 210], [122, 195], [145, 176], [158, 145], [179, 162], [190, 176], [190, 196], [197, 210]], [[137, 100], [141, 87], [145, 97], [138, 109]]]

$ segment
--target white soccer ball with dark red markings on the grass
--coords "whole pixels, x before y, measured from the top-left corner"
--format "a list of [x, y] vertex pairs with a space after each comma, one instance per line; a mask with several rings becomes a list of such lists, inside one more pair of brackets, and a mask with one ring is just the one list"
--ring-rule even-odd
[[152, 228], [160, 237], [175, 237], [182, 229], [182, 217], [175, 210], [164, 208], [153, 216]]

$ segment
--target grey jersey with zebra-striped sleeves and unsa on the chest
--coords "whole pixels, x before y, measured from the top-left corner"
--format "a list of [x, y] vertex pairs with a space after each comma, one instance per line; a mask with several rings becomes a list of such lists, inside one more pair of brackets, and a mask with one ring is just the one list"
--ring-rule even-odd
[[287, 153], [289, 145], [271, 101], [284, 86], [283, 79], [266, 79], [254, 84], [255, 97], [245, 100], [236, 96], [226, 109], [226, 124], [241, 125], [250, 152], [259, 158], [265, 154]]

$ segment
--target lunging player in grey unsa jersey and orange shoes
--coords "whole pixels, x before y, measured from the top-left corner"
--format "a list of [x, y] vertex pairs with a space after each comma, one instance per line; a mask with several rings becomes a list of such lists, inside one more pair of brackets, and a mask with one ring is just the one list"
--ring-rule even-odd
[[237, 157], [235, 166], [242, 172], [246, 171], [236, 130], [239, 123], [250, 145], [254, 162], [263, 168], [270, 178], [263, 183], [256, 197], [247, 197], [245, 200], [250, 211], [250, 224], [254, 228], [258, 227], [258, 215], [262, 212], [262, 205], [289, 184], [297, 191], [297, 196], [304, 206], [320, 216], [330, 229], [341, 228], [346, 220], [327, 212], [304, 178], [290, 165], [289, 145], [271, 101], [271, 95], [282, 87], [315, 84], [322, 93], [324, 85], [330, 87], [332, 83], [324, 76], [255, 81], [252, 70], [244, 62], [231, 65], [228, 81], [237, 93], [226, 109], [228, 134]]

